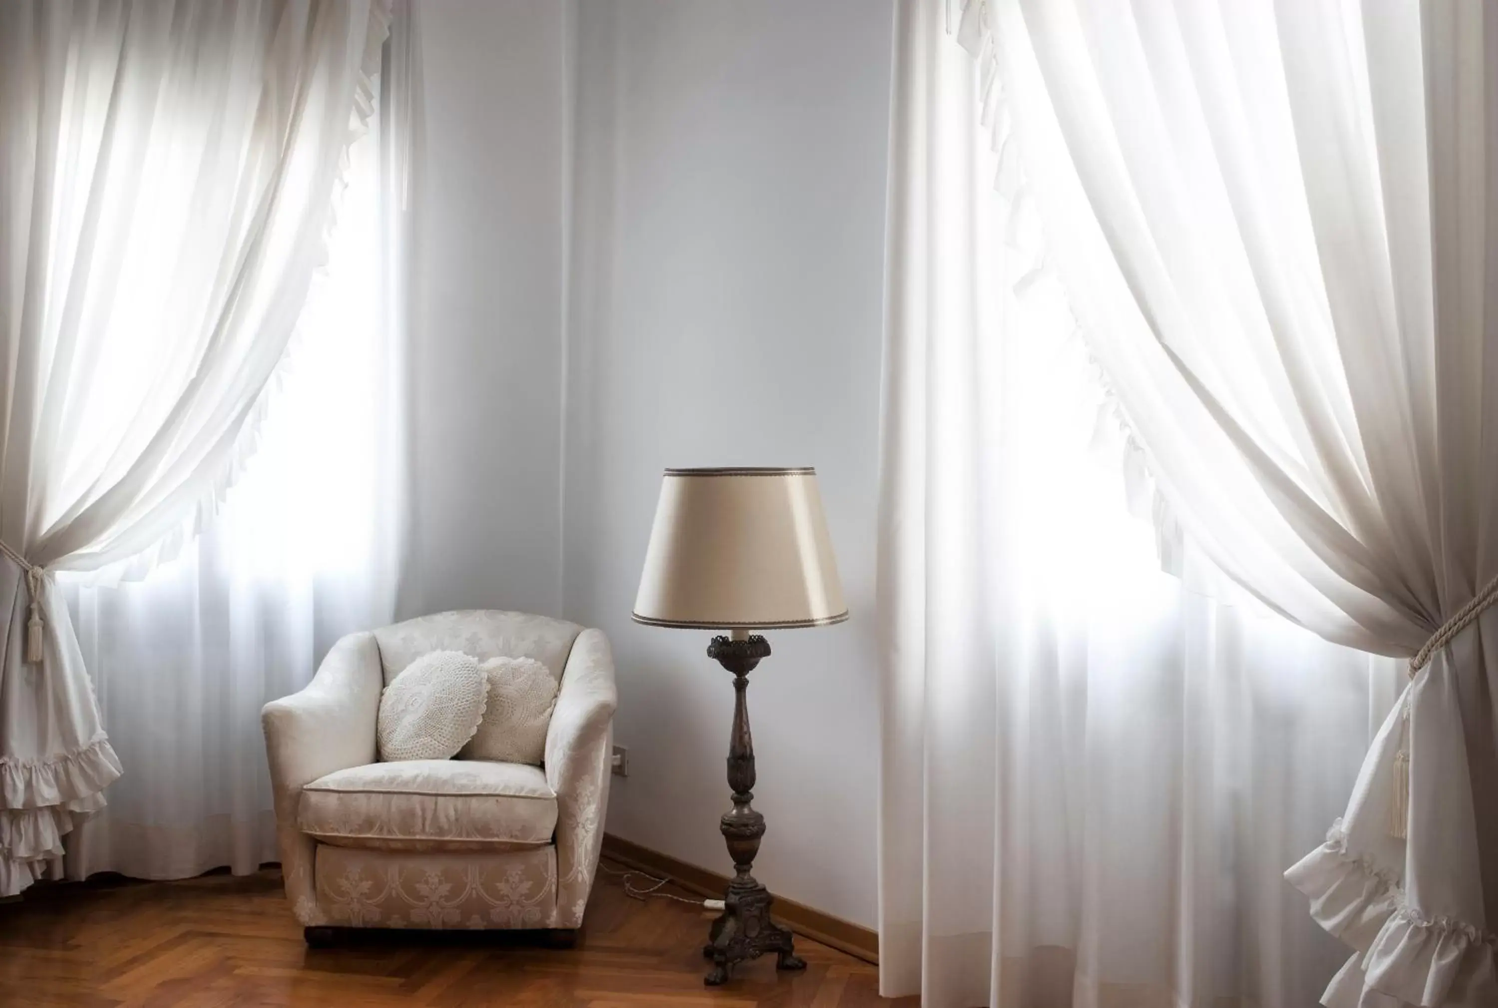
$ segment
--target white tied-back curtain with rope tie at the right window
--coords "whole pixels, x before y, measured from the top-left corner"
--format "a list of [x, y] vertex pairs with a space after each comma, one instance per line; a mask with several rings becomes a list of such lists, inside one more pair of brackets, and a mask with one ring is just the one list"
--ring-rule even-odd
[[1287, 873], [1354, 951], [1324, 1002], [1498, 1004], [1494, 7], [953, 12], [1158, 511], [1327, 640], [1422, 652]]

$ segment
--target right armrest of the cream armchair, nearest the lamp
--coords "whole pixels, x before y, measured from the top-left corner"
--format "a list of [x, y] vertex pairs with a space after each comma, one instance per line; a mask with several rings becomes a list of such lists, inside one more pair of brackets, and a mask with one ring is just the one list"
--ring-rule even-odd
[[547, 783], [557, 794], [557, 915], [553, 927], [577, 927], [604, 842], [613, 747], [614, 658], [602, 631], [572, 643], [562, 689], [547, 728]]

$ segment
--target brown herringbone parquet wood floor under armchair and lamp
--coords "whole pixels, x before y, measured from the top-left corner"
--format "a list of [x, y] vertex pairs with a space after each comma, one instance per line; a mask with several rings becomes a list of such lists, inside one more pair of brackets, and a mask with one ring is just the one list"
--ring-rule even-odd
[[183, 882], [43, 884], [0, 905], [3, 1008], [861, 1008], [878, 971], [797, 938], [804, 974], [773, 957], [703, 987], [706, 918], [671, 900], [628, 899], [601, 875], [572, 950], [502, 933], [369, 932], [310, 950], [280, 875]]

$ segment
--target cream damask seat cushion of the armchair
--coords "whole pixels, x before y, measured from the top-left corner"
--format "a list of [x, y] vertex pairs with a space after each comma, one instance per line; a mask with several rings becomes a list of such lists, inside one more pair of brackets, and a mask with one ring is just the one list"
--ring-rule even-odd
[[306, 785], [297, 825], [334, 846], [374, 851], [517, 851], [551, 843], [557, 797], [539, 767], [404, 759]]

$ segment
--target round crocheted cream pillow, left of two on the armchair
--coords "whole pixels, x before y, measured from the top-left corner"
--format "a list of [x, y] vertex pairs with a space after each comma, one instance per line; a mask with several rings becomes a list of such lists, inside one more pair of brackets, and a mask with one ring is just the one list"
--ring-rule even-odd
[[449, 759], [484, 719], [487, 681], [463, 652], [430, 652], [391, 680], [379, 698], [379, 758]]

